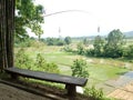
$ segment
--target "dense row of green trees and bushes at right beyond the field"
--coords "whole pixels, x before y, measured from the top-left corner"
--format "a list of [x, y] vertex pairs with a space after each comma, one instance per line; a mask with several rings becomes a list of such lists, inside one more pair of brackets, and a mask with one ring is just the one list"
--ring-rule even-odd
[[[125, 36], [120, 29], [112, 30], [106, 38], [96, 36], [93, 40], [93, 48], [85, 49], [86, 39], [82, 43], [76, 46], [78, 54], [85, 54], [92, 57], [106, 57], [106, 58], [132, 58], [133, 57], [133, 44], [127, 46]], [[71, 49], [72, 51], [72, 49]]]

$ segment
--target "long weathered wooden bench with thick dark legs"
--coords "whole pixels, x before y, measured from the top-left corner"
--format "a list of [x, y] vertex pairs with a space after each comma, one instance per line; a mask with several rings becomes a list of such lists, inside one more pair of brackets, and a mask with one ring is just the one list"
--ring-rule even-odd
[[11, 77], [16, 79], [18, 78], [18, 76], [22, 76], [22, 77], [33, 78], [33, 79], [44, 80], [44, 81], [64, 83], [69, 96], [75, 96], [76, 94], [75, 87], [76, 86], [84, 87], [88, 81], [88, 79], [85, 78], [74, 78], [74, 77], [62, 76], [57, 73], [31, 71], [31, 70], [19, 69], [19, 68], [7, 68], [4, 69], [4, 71], [10, 73]]

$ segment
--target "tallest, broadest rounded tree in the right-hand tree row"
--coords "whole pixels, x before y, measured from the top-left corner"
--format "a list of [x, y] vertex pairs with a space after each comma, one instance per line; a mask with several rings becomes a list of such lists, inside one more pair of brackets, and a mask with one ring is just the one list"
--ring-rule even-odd
[[104, 46], [105, 57], [119, 58], [122, 57], [122, 46], [124, 44], [124, 34], [117, 29], [109, 33], [108, 42]]

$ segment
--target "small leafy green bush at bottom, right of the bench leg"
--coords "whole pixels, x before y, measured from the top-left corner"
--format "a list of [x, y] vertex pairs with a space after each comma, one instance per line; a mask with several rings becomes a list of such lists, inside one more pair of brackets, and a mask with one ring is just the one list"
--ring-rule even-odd
[[98, 89], [95, 89], [94, 86], [91, 88], [85, 88], [84, 94], [89, 96], [91, 98], [91, 100], [110, 100], [104, 97], [102, 89], [98, 90]]

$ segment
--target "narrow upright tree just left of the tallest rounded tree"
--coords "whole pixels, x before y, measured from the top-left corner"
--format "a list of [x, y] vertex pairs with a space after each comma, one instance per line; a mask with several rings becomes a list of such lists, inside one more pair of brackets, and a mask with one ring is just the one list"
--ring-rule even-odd
[[104, 40], [100, 36], [96, 36], [94, 38], [94, 44], [93, 46], [94, 46], [94, 54], [96, 57], [102, 56]]

